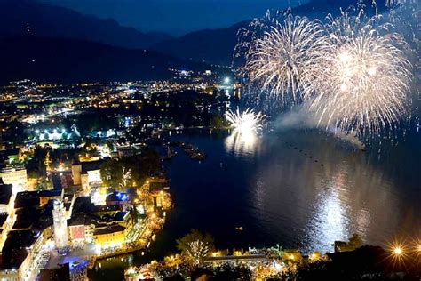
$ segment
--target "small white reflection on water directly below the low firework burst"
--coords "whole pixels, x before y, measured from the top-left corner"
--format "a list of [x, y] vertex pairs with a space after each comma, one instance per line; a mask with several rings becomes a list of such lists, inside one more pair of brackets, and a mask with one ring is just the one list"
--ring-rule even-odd
[[256, 132], [239, 132], [234, 130], [225, 140], [226, 152], [235, 155], [252, 155], [258, 151], [261, 140]]

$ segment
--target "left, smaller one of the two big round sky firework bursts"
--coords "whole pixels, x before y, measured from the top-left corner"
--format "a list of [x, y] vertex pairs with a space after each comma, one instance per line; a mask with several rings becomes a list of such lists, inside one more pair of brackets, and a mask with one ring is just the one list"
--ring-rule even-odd
[[[268, 94], [266, 100], [296, 104], [308, 83], [306, 76], [327, 47], [318, 20], [292, 17], [270, 21], [272, 26], [250, 44], [245, 70], [251, 84]], [[265, 30], [265, 28], [261, 28]]]

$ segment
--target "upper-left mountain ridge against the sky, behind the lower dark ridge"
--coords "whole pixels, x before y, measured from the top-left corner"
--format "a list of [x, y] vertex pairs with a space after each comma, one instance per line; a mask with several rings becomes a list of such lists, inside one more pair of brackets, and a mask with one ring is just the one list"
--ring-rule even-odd
[[148, 48], [171, 38], [34, 0], [0, 0], [0, 36], [23, 35], [74, 38], [132, 49]]

